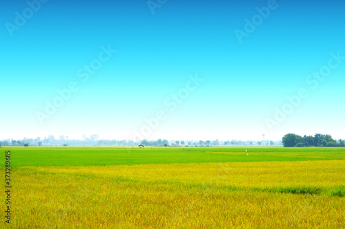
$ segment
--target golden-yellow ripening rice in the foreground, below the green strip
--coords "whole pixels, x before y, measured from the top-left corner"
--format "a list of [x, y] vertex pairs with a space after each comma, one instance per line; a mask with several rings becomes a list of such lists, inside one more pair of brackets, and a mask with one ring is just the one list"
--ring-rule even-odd
[[342, 160], [21, 167], [12, 176], [13, 228], [345, 225], [345, 197], [262, 191], [344, 186]]

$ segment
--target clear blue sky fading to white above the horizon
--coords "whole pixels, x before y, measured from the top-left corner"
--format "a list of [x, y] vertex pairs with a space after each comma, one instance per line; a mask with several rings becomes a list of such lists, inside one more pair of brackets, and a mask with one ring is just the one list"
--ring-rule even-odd
[[[26, 1], [1, 2], [2, 139], [135, 131], [148, 139], [345, 138], [345, 60], [331, 55], [345, 56], [344, 1], [152, 1], [154, 14], [146, 1], [28, 2], [37, 12]], [[240, 43], [235, 30], [246, 32], [245, 19], [268, 6]], [[25, 23], [16, 24], [16, 12]], [[97, 63], [102, 47], [116, 52], [83, 82], [79, 69]], [[337, 67], [313, 89], [306, 79], [331, 58]], [[191, 76], [203, 81], [171, 110], [165, 101]], [[46, 102], [71, 82], [79, 89], [43, 119]], [[307, 98], [278, 122], [276, 107], [301, 88]], [[150, 127], [145, 119], [157, 111], [166, 118]]]

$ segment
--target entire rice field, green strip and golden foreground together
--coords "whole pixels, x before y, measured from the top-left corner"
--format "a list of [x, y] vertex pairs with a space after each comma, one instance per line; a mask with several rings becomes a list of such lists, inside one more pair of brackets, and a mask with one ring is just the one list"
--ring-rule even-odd
[[242, 147], [8, 149], [6, 228], [345, 225], [344, 148], [250, 147], [248, 156]]

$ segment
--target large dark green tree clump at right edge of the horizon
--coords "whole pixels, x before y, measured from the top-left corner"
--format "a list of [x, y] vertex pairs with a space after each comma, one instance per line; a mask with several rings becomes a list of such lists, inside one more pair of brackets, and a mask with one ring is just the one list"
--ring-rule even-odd
[[288, 133], [282, 139], [284, 147], [344, 147], [345, 140], [334, 140], [329, 134], [316, 133], [312, 135], [304, 135], [303, 137], [295, 133]]

